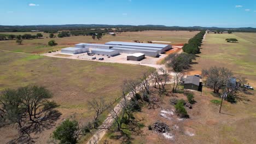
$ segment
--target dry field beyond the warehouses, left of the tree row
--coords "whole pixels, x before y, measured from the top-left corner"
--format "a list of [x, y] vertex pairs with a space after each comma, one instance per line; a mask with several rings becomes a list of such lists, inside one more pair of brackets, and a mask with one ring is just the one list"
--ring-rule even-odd
[[[11, 34], [25, 34], [23, 33], [11, 33]], [[104, 35], [102, 40], [93, 40], [91, 36], [74, 36], [66, 38], [45, 38], [49, 34], [43, 33], [44, 39], [32, 39], [24, 40], [22, 45], [18, 45], [16, 40], [0, 41], [1, 50], [9, 50], [15, 52], [26, 52], [26, 53], [45, 53], [51, 50], [60, 50], [63, 47], [74, 46], [77, 43], [100, 43], [104, 44], [108, 41], [130, 41], [141, 40], [143, 43], [147, 41], [171, 41], [170, 44], [183, 44], [187, 43], [189, 38], [192, 38], [197, 31], [143, 31], [143, 32], [123, 32], [117, 34], [117, 36]], [[5, 33], [2, 33], [5, 34]], [[6, 33], [10, 34], [10, 33]], [[48, 41], [55, 40], [58, 43], [57, 46], [48, 46]], [[160, 43], [162, 44], [162, 43]], [[169, 44], [169, 43], [168, 43]]]

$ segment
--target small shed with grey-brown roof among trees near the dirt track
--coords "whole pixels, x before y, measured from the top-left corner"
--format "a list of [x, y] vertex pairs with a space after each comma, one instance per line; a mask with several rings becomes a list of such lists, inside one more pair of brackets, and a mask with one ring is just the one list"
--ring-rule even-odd
[[184, 80], [184, 89], [193, 89], [199, 91], [200, 77], [189, 75]]

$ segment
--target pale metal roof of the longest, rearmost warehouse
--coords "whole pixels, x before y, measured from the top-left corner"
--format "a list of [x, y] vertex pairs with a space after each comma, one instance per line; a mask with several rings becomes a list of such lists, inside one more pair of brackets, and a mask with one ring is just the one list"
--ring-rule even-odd
[[146, 44], [146, 43], [130, 43], [130, 42], [123, 42], [123, 41], [109, 41], [105, 43], [107, 45], [129, 45], [129, 46], [146, 46], [146, 47], [159, 47], [164, 48], [168, 45], [164, 44]]

